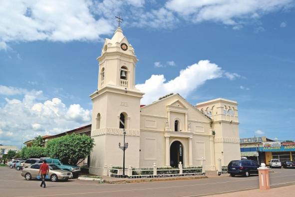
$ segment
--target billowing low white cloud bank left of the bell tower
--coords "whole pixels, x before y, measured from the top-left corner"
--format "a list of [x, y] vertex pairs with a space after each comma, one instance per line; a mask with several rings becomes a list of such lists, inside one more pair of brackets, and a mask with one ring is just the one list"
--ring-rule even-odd
[[20, 144], [21, 136], [28, 140], [36, 135], [56, 134], [90, 123], [90, 110], [79, 104], [67, 106], [59, 98], [44, 99], [46, 97], [40, 90], [9, 89], [21, 89], [8, 93], [22, 98], [5, 98], [0, 107], [0, 143]]

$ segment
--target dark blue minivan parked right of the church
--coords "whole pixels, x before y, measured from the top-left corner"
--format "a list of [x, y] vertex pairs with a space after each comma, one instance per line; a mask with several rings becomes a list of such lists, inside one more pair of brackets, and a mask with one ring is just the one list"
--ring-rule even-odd
[[231, 176], [258, 174], [259, 165], [253, 160], [232, 160], [228, 165], [228, 173]]

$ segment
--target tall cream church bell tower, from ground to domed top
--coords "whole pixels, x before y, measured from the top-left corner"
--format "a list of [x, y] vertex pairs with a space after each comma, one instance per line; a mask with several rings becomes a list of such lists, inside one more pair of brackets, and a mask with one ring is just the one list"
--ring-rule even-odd
[[140, 99], [135, 88], [137, 58], [133, 46], [120, 27], [111, 39], [106, 38], [98, 60], [98, 85], [90, 98], [92, 107], [91, 137], [95, 146], [90, 155], [90, 173], [103, 174], [105, 165], [122, 166], [118, 147], [123, 131], [129, 146], [126, 166], [139, 167]]

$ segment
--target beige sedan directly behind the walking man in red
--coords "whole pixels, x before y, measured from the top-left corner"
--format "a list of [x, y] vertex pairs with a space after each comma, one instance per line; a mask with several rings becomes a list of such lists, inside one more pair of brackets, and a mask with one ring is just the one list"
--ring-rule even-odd
[[[29, 167], [23, 168], [21, 171], [21, 176], [23, 176], [26, 180], [31, 180], [32, 178], [37, 178], [39, 173], [40, 163], [35, 163], [30, 165]], [[72, 172], [60, 169], [57, 165], [49, 164], [49, 179], [52, 182], [57, 180], [68, 180], [73, 177]]]

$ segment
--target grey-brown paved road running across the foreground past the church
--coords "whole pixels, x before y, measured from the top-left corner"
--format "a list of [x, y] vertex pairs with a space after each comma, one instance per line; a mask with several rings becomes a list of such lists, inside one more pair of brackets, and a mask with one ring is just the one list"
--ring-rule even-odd
[[[153, 196], [189, 197], [204, 196], [238, 190], [258, 188], [258, 176], [230, 177], [192, 180], [170, 180], [126, 184], [99, 184], [95, 181], [70, 180], [67, 182], [47, 182], [41, 188], [37, 180], [24, 180], [20, 171], [0, 167], [0, 196]], [[295, 169], [275, 169], [271, 173], [271, 185], [295, 184]]]

